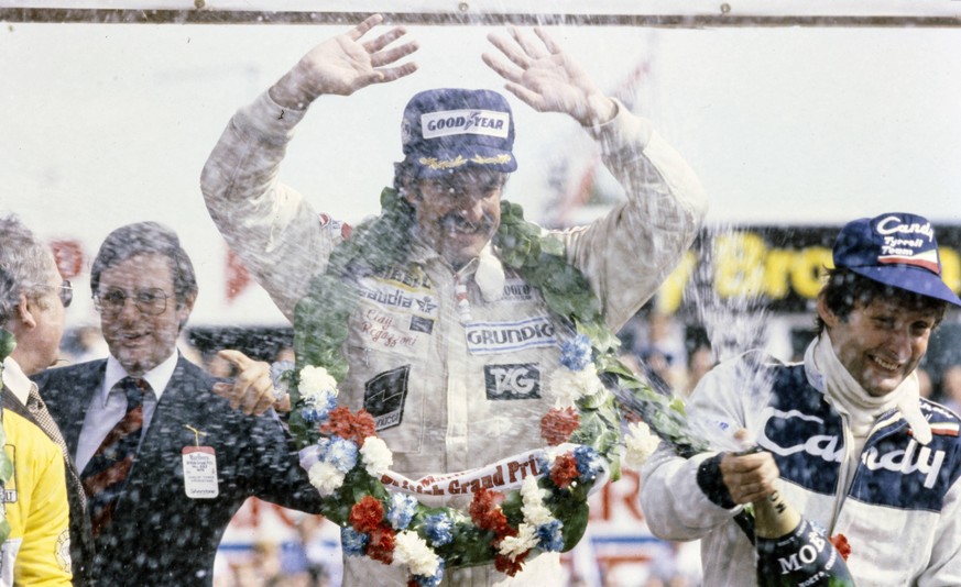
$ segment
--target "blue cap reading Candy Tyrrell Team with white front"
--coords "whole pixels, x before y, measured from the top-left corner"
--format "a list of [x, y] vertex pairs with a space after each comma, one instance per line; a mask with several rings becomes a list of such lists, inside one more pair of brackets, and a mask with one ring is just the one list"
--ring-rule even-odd
[[922, 217], [892, 212], [849, 222], [834, 241], [833, 257], [836, 267], [961, 306], [941, 278], [935, 229]]

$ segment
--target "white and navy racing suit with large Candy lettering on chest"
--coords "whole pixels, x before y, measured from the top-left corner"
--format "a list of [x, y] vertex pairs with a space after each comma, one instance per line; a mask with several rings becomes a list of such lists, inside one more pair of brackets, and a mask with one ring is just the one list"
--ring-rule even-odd
[[[847, 418], [826, 401], [822, 380], [810, 353], [785, 365], [751, 352], [709, 373], [687, 413], [720, 447], [743, 428], [774, 455], [787, 501], [828, 535], [847, 538], [859, 587], [961, 585], [958, 416], [919, 399], [932, 432], [925, 446], [893, 408], [877, 418], [852, 468]], [[716, 505], [697, 481], [714, 454], [686, 461], [662, 446], [642, 472], [641, 506], [656, 535], [701, 540], [705, 585], [754, 585], [754, 549], [733, 521], [741, 508]]]

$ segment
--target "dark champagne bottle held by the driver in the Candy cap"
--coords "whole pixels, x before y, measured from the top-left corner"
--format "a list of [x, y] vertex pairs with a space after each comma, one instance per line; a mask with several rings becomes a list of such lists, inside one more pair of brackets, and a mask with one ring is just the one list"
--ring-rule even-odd
[[758, 587], [851, 587], [844, 560], [823, 531], [778, 491], [754, 502]]

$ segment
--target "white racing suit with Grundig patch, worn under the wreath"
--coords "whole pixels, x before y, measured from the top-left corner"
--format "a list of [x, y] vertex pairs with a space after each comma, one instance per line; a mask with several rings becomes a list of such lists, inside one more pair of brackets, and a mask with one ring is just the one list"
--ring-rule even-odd
[[[590, 226], [557, 232], [613, 329], [680, 262], [706, 212], [700, 184], [680, 156], [647, 121], [620, 108], [597, 139], [627, 201]], [[262, 95], [231, 119], [201, 179], [215, 223], [288, 318], [345, 232], [327, 217], [318, 223], [306, 200], [276, 179], [303, 115]], [[412, 479], [544, 446], [539, 421], [554, 405], [549, 379], [566, 334], [540, 294], [510, 270], [489, 280], [482, 294], [474, 280], [479, 261], [455, 273], [432, 248], [413, 242], [406, 263], [353, 284], [360, 306], [343, 350], [350, 373], [340, 385], [340, 403], [374, 416], [378, 434], [393, 452], [393, 469]], [[481, 257], [501, 266], [490, 246]], [[461, 311], [458, 285], [467, 288]], [[455, 485], [443, 489], [462, 507], [469, 496]], [[345, 563], [346, 585], [405, 582], [400, 568], [356, 557]], [[543, 555], [515, 580], [549, 584], [557, 573], [557, 556]], [[445, 583], [499, 582], [506, 577], [492, 565], [445, 574]]]

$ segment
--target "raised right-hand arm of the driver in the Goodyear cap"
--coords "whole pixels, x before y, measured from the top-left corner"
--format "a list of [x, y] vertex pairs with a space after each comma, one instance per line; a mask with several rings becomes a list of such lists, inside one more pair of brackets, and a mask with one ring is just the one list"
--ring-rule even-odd
[[590, 226], [558, 233], [619, 330], [651, 299], [690, 247], [707, 212], [703, 189], [653, 124], [605, 96], [545, 31], [491, 34], [484, 63], [540, 112], [567, 113], [598, 141], [627, 201]]

